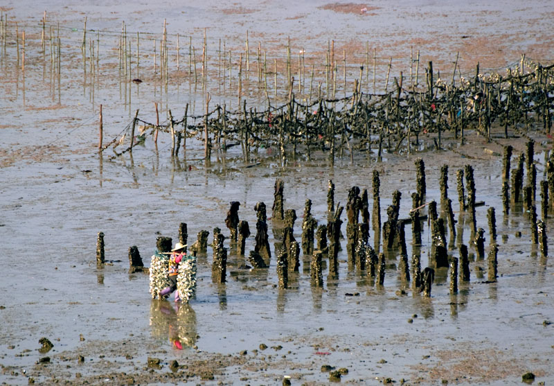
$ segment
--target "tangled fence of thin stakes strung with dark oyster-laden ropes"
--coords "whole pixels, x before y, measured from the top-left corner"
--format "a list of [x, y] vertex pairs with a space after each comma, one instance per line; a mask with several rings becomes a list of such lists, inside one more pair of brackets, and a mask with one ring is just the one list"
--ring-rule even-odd
[[[551, 131], [554, 112], [554, 66], [535, 64], [535, 71], [525, 75], [510, 71], [506, 78], [476, 74], [472, 82], [447, 85], [435, 82], [432, 62], [427, 71], [427, 90], [411, 91], [395, 79], [395, 89], [386, 94], [365, 94], [359, 90], [346, 98], [327, 100], [319, 98], [315, 103], [296, 100], [294, 94], [285, 105], [269, 105], [263, 111], [242, 107], [229, 112], [226, 105], [209, 109], [210, 96], [206, 98], [206, 114], [188, 114], [175, 119], [169, 110], [165, 124], [139, 118], [139, 110], [127, 125], [124, 135], [132, 140], [127, 150], [132, 150], [135, 128], [141, 126], [142, 135], [154, 135], [162, 130], [171, 134], [171, 154], [178, 155], [179, 147], [186, 152], [186, 139], [197, 137], [204, 142], [204, 157], [211, 158], [212, 149], [225, 152], [230, 146], [240, 144], [244, 160], [249, 162], [260, 148], [276, 147], [280, 161], [287, 162], [287, 148], [296, 157], [297, 148], [308, 159], [312, 152], [325, 150], [330, 162], [337, 155], [350, 155], [354, 162], [355, 152], [372, 154], [377, 159], [382, 151], [408, 152], [420, 145], [420, 136], [432, 134], [436, 148], [442, 148], [442, 138], [450, 137], [464, 143], [467, 128], [473, 128], [489, 140], [493, 137], [493, 125], [508, 138], [515, 132]], [[100, 119], [101, 121], [101, 119]], [[124, 137], [116, 137], [106, 146], [102, 145], [102, 123], [98, 147], [105, 150], [118, 145]], [[373, 149], [373, 150], [372, 150]]]

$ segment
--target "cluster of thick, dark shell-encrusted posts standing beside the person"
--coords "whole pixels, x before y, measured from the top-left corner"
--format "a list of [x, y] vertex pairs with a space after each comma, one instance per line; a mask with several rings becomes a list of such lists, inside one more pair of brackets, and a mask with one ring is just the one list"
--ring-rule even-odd
[[[534, 159], [534, 141], [530, 140], [526, 146], [526, 152], [517, 158], [517, 166], [511, 171], [511, 189], [507, 188], [510, 184], [510, 160], [512, 157], [512, 147], [504, 148], [503, 156], [503, 181], [501, 194], [503, 197], [503, 214], [507, 218], [510, 209], [513, 211], [525, 211], [528, 214], [530, 225], [531, 242], [538, 244], [540, 252], [544, 258], [548, 255], [548, 246], [546, 239], [546, 219], [548, 213], [554, 210], [554, 199], [548, 195], [548, 191], [554, 191], [554, 155], [550, 155], [547, 162], [547, 178], [540, 183], [542, 198], [542, 220], [537, 220], [537, 211], [535, 209], [535, 186], [536, 186], [536, 168]], [[525, 163], [525, 159], [527, 159]], [[524, 166], [526, 165], [526, 166]], [[535, 171], [534, 171], [535, 170]], [[528, 176], [527, 183], [524, 186], [522, 176]], [[408, 283], [411, 279], [413, 290], [422, 290], [425, 296], [430, 296], [431, 283], [434, 280], [436, 269], [449, 268], [450, 290], [455, 293], [458, 291], [458, 277], [460, 281], [470, 281], [470, 258], [467, 245], [463, 244], [463, 227], [469, 225], [471, 229], [470, 245], [475, 249], [477, 260], [485, 258], [485, 230], [477, 227], [476, 207], [484, 205], [484, 202], [476, 201], [476, 186], [474, 181], [474, 171], [472, 166], [466, 165], [463, 169], [456, 172], [456, 182], [458, 191], [458, 202], [460, 214], [458, 220], [454, 218], [452, 200], [448, 198], [448, 166], [440, 168], [440, 211], [436, 201], [425, 201], [426, 198], [426, 177], [425, 164], [420, 158], [415, 160], [415, 179], [416, 191], [412, 193], [412, 209], [409, 211], [409, 218], [400, 218], [400, 200], [402, 193], [393, 192], [392, 204], [386, 209], [387, 220], [381, 221], [380, 207], [380, 179], [377, 170], [373, 171], [373, 221], [370, 222], [370, 211], [368, 204], [368, 191], [360, 191], [359, 187], [352, 186], [348, 191], [348, 201], [346, 204], [346, 254], [348, 261], [348, 270], [357, 270], [361, 274], [371, 278], [378, 285], [383, 285], [386, 268], [386, 259], [395, 259], [400, 256], [398, 271], [400, 280]], [[465, 179], [465, 184], [464, 184]], [[506, 192], [510, 193], [506, 193]], [[526, 192], [521, 195], [521, 191]], [[279, 288], [287, 288], [289, 274], [298, 272], [300, 267], [301, 249], [305, 256], [311, 256], [310, 262], [305, 262], [310, 266], [310, 276], [312, 285], [316, 287], [323, 286], [323, 268], [322, 259], [327, 257], [328, 261], [328, 280], [339, 278], [339, 250], [341, 249], [341, 215], [344, 207], [334, 203], [334, 184], [329, 181], [327, 195], [327, 223], [318, 225], [318, 222], [312, 216], [312, 201], [307, 199], [303, 213], [301, 242], [294, 237], [294, 222], [296, 221], [296, 211], [294, 209], [284, 209], [284, 183], [277, 179], [274, 186], [274, 204], [272, 206], [272, 222], [274, 225], [273, 233], [276, 240], [276, 270], [278, 274]], [[467, 193], [466, 193], [467, 192]], [[508, 197], [508, 198], [507, 198]], [[427, 215], [422, 211], [427, 207]], [[249, 223], [239, 220], [238, 211], [239, 202], [231, 202], [231, 207], [227, 212], [225, 224], [229, 229], [230, 245], [236, 249], [236, 254], [244, 256], [246, 252], [246, 240], [251, 231]], [[267, 210], [263, 202], [258, 202], [254, 207], [256, 211], [256, 238], [255, 245], [249, 252], [249, 262], [257, 269], [269, 267], [271, 261], [271, 247], [269, 245]], [[361, 219], [360, 219], [361, 217]], [[494, 207], [489, 207], [487, 211], [490, 248], [488, 252], [488, 282], [494, 282], [498, 276], [498, 245], [496, 230], [496, 211]], [[422, 229], [425, 220], [429, 223], [431, 232], [431, 245], [429, 253], [429, 266], [421, 270], [420, 247], [422, 245]], [[458, 229], [456, 229], [458, 222]], [[411, 224], [413, 256], [411, 258], [411, 269], [408, 261], [406, 249], [405, 225]], [[370, 227], [373, 227], [375, 240], [374, 247], [370, 245]], [[449, 229], [450, 241], [447, 243], [446, 229]], [[199, 231], [196, 242], [189, 247], [194, 254], [206, 254], [208, 247], [208, 235], [206, 230]], [[226, 281], [227, 248], [224, 247], [225, 236], [221, 229], [216, 227], [213, 231], [213, 264], [212, 278], [215, 283], [224, 283]], [[188, 229], [186, 223], [179, 226], [179, 242], [187, 244]], [[452, 251], [457, 245], [459, 251], [458, 257], [449, 255], [449, 249]], [[170, 252], [172, 246], [171, 238], [159, 237], [157, 248], [160, 252]], [[382, 252], [379, 252], [382, 251]], [[97, 243], [97, 262], [104, 262], [103, 252], [103, 234], [98, 234]], [[458, 271], [458, 263], [460, 269]], [[129, 248], [129, 264], [132, 272], [142, 270], [142, 261], [136, 246]]]

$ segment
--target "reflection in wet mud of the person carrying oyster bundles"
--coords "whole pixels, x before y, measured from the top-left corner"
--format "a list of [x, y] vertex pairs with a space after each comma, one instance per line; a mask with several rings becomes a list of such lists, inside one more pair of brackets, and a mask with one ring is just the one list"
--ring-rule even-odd
[[150, 306], [152, 336], [165, 340], [173, 348], [193, 347], [197, 340], [196, 313], [190, 304], [171, 304], [167, 300], [153, 300]]

